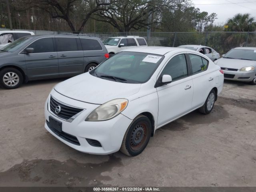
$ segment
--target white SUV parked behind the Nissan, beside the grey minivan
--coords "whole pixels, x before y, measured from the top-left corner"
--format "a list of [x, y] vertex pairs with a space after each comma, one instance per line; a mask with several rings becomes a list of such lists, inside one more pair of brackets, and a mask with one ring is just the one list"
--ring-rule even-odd
[[148, 46], [146, 40], [140, 36], [110, 37], [103, 43], [108, 50], [109, 56], [127, 48]]

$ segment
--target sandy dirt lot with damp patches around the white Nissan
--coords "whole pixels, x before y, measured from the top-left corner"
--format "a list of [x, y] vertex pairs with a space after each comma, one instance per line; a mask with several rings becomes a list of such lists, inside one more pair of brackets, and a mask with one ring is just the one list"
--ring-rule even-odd
[[160, 128], [130, 158], [78, 152], [44, 129], [62, 80], [0, 89], [0, 186], [256, 186], [256, 86], [225, 82], [211, 114]]

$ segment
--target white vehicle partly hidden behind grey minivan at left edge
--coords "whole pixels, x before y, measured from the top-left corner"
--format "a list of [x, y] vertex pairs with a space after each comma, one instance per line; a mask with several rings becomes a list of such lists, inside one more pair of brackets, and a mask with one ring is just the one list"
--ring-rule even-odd
[[34, 35], [34, 33], [30, 31], [0, 31], [0, 49], [8, 43], [28, 35]]

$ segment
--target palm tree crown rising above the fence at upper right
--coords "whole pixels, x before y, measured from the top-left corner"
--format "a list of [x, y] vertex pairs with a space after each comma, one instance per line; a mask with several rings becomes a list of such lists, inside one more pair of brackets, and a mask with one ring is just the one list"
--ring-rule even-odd
[[255, 18], [249, 13], [236, 14], [233, 18], [228, 19], [226, 31], [252, 32], [256, 30]]

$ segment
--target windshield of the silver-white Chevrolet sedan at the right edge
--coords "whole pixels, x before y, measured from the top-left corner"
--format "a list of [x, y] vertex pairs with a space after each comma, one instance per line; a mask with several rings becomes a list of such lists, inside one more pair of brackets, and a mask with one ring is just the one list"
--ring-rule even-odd
[[223, 58], [243, 59], [256, 61], [256, 50], [232, 49]]

